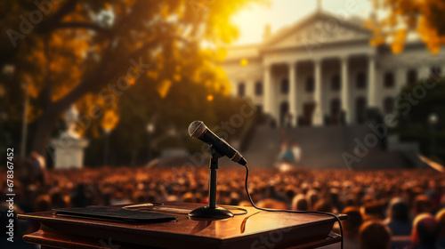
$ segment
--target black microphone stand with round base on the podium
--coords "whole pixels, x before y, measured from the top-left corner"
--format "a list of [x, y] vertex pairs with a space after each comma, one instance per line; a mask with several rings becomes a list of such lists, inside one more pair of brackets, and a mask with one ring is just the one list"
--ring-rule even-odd
[[221, 157], [223, 157], [221, 154], [212, 149], [208, 177], [208, 205], [198, 207], [191, 211], [189, 213], [190, 217], [215, 220], [233, 217], [233, 213], [229, 210], [221, 206], [216, 206], [216, 171], [218, 170], [218, 159]]

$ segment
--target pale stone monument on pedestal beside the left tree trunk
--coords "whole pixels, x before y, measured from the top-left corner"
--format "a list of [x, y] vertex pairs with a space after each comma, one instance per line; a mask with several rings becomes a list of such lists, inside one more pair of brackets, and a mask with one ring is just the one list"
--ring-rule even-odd
[[54, 167], [56, 169], [81, 168], [84, 165], [84, 149], [88, 140], [81, 138], [76, 131], [78, 110], [74, 105], [64, 115], [67, 130], [58, 138], [51, 140], [54, 149]]

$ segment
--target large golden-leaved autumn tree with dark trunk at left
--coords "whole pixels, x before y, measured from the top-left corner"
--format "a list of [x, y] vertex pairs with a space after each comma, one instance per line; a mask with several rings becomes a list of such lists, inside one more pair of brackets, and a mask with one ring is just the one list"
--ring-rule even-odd
[[[184, 77], [227, 89], [221, 52], [202, 44], [230, 43], [238, 35], [231, 14], [252, 2], [261, 1], [3, 1], [0, 68], [14, 68], [6, 95], [28, 85], [32, 150], [44, 153], [69, 105], [77, 102], [89, 117], [81, 129], [100, 124], [92, 120], [117, 109], [118, 97], [145, 74], [161, 95]], [[10, 108], [20, 106], [12, 99]]]

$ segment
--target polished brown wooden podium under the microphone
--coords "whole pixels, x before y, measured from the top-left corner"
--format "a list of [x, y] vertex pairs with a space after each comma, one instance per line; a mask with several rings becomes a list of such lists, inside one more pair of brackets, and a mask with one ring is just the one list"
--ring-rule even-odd
[[[254, 207], [226, 220], [191, 220], [186, 214], [202, 204], [166, 202], [181, 209], [176, 221], [131, 224], [56, 215], [27, 213], [19, 219], [39, 221], [40, 229], [23, 240], [49, 248], [317, 248], [338, 243], [333, 233], [336, 220], [328, 215], [273, 213]], [[121, 206], [109, 206], [121, 208]], [[233, 213], [239, 213], [232, 210]], [[158, 212], [158, 211], [157, 211]], [[346, 215], [340, 214], [340, 219]]]

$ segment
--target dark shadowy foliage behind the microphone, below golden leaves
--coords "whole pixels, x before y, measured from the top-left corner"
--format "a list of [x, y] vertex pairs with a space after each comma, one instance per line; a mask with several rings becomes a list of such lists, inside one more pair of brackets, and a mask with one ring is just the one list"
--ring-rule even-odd
[[[187, 78], [182, 79], [181, 84], [173, 84], [165, 96], [156, 91], [159, 84], [153, 84], [150, 76], [145, 76], [120, 97], [117, 110], [120, 120], [109, 135], [109, 162], [112, 165], [146, 164], [149, 150], [151, 158], [163, 149], [201, 151], [203, 143], [190, 138], [189, 124], [203, 120], [210, 128], [221, 126], [221, 122], [229, 122], [233, 114], [239, 113], [244, 104], [243, 100], [227, 97]], [[206, 100], [209, 95], [214, 99]], [[147, 131], [148, 124], [154, 124], [152, 134]], [[238, 135], [242, 128], [231, 126], [231, 129]], [[97, 155], [102, 155], [105, 141], [101, 138], [105, 134], [99, 131], [97, 140], [92, 133], [93, 130], [87, 133], [92, 144], [85, 155], [85, 163], [101, 165], [102, 157]]]

